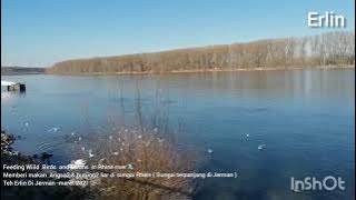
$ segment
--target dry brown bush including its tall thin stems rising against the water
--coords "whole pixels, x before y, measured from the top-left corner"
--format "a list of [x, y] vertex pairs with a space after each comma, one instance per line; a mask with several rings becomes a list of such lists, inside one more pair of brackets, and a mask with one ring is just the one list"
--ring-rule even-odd
[[[138, 87], [138, 86], [137, 86]], [[122, 91], [120, 91], [121, 93]], [[122, 97], [122, 93], [120, 94]], [[99, 170], [119, 173], [191, 173], [198, 170], [204, 158], [196, 151], [178, 144], [177, 134], [169, 128], [169, 106], [156, 102], [154, 113], [147, 121], [142, 116], [140, 91], [137, 88], [135, 113], [137, 122], [128, 126], [120, 112], [119, 121], [112, 119], [102, 132], [95, 131], [85, 139], [83, 146], [75, 150], [76, 159], [86, 159], [88, 164], [131, 166], [126, 170]], [[156, 101], [164, 93], [156, 91]], [[125, 103], [120, 98], [121, 111]], [[83, 148], [85, 147], [85, 148]], [[93, 157], [88, 158], [88, 152]], [[98, 170], [93, 170], [98, 172]], [[96, 199], [190, 199], [198, 190], [198, 180], [192, 178], [100, 178], [92, 180]]]

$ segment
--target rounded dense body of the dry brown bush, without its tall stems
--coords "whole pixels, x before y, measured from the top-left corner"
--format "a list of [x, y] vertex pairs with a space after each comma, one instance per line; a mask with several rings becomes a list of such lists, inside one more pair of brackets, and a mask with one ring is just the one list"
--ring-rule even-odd
[[[179, 151], [172, 138], [162, 137], [157, 129], [112, 129], [110, 134], [98, 134], [90, 143], [93, 157], [89, 164], [128, 166], [125, 170], [93, 170], [95, 172], [152, 173], [194, 172], [192, 153]], [[88, 149], [78, 158], [88, 158]], [[100, 178], [92, 180], [97, 199], [189, 199], [197, 187], [191, 178]]]

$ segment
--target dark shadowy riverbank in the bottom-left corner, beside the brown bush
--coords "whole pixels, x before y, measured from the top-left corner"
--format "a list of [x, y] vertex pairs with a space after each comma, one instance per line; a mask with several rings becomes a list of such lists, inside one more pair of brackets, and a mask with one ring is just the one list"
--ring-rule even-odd
[[[1, 181], [1, 198], [22, 200], [22, 199], [88, 199], [90, 197], [89, 190], [87, 188], [66, 186], [66, 187], [52, 187], [49, 184], [29, 184], [31, 182], [55, 182], [58, 180], [50, 178], [31, 178], [28, 177], [27, 172], [49, 174], [53, 171], [38, 169], [28, 170], [26, 173], [21, 169], [16, 169], [13, 167], [34, 166], [40, 164], [33, 157], [26, 156], [19, 151], [12, 149], [12, 144], [16, 141], [16, 137], [8, 133], [6, 130], [1, 129], [1, 166], [2, 170], [2, 181]], [[7, 166], [8, 168], [4, 168]], [[47, 177], [47, 176], [46, 176]]]

